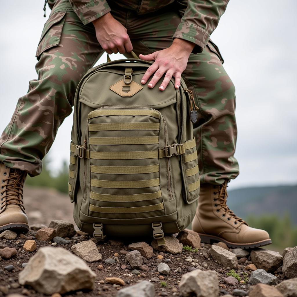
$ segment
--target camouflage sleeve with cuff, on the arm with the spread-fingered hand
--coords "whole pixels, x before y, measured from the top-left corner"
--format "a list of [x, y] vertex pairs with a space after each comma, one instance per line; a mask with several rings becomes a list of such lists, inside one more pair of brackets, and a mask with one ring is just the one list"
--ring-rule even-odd
[[177, 0], [181, 15], [172, 38], [181, 38], [196, 44], [192, 53], [201, 53], [210, 34], [216, 29], [229, 0]]

